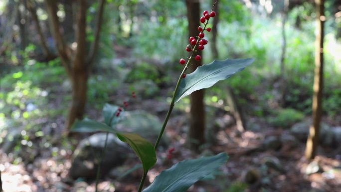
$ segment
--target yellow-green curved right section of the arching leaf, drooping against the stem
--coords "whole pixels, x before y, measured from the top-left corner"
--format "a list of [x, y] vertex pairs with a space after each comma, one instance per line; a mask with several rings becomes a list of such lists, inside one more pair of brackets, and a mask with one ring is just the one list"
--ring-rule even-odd
[[156, 153], [154, 146], [136, 133], [116, 133], [117, 137], [130, 145], [139, 157], [144, 173], [147, 173], [156, 164]]

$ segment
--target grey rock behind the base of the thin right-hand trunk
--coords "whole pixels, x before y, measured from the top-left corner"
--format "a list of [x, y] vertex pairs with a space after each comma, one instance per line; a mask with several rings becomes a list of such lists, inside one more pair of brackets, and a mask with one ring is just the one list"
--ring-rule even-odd
[[[300, 123], [293, 125], [290, 129], [290, 133], [296, 137], [301, 142], [306, 142], [309, 135], [309, 128], [312, 124], [311, 120], [306, 120]], [[320, 143], [324, 146], [332, 146], [333, 145], [333, 132], [330, 126], [326, 123], [321, 123], [320, 126]]]

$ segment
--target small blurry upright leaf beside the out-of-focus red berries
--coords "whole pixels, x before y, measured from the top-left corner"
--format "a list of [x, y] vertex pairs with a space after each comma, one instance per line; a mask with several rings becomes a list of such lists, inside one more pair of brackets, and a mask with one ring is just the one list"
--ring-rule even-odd
[[114, 127], [114, 125], [116, 125], [121, 120], [121, 118], [123, 117], [124, 109], [121, 108], [122, 111], [120, 112], [120, 115], [116, 116], [119, 108], [120, 107], [117, 105], [112, 105], [109, 103], [104, 104], [102, 115], [106, 125]]

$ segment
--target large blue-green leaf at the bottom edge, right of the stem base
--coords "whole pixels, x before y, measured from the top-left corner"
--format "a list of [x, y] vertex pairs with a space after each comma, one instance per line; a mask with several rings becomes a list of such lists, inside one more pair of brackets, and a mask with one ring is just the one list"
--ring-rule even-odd
[[227, 161], [220, 153], [212, 157], [184, 160], [161, 172], [143, 192], [185, 192], [195, 182], [203, 179]]

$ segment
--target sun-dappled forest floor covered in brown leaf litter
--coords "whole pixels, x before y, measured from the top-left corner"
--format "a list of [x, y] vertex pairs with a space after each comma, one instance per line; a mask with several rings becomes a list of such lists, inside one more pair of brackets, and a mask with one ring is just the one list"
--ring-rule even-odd
[[[162, 92], [162, 91], [161, 91]], [[59, 93], [60, 94], [60, 93]], [[54, 97], [58, 98], [58, 97]], [[149, 109], [151, 99], [130, 106], [132, 109]], [[60, 103], [57, 100], [49, 102], [53, 108]], [[87, 109], [88, 114], [96, 118], [96, 109]], [[91, 116], [91, 115], [90, 115]], [[163, 116], [160, 117], [163, 121]], [[232, 116], [228, 112], [219, 113], [217, 119], [230, 121]], [[258, 130], [239, 132], [234, 124], [216, 130], [216, 139], [205, 147], [203, 154], [218, 154], [226, 152], [229, 160], [221, 167], [215, 179], [200, 181], [192, 186], [189, 192], [340, 192], [341, 189], [341, 148], [330, 149], [320, 147], [318, 156], [314, 160], [319, 164], [317, 173], [307, 175], [306, 168], [310, 164], [304, 158], [305, 143], [283, 143], [280, 149], [266, 149], [262, 147], [268, 136], [288, 135], [288, 130], [274, 129], [261, 118], [249, 118], [252, 123], [259, 125]], [[186, 117], [180, 113], [171, 116], [166, 134], [170, 138], [169, 147], [175, 152], [168, 160], [166, 152], [158, 152], [158, 159], [162, 160], [149, 172], [149, 181], [162, 170], [184, 159], [196, 158], [200, 155], [185, 147]], [[47, 119], [43, 124], [56, 123], [54, 133], [60, 133], [64, 125], [64, 117]], [[94, 192], [95, 181], [76, 180], [68, 178], [71, 166], [72, 147], [63, 145], [58, 134], [51, 135], [51, 147], [37, 145], [28, 154], [35, 154], [33, 161], [15, 162], [15, 157], [7, 156], [0, 150], [0, 171], [4, 192]], [[43, 141], [39, 138], [38, 143]], [[72, 146], [73, 144], [71, 144]], [[55, 155], [53, 155], [55, 154]], [[271, 166], [268, 160], [278, 163]], [[129, 167], [138, 164], [138, 159], [126, 162]], [[142, 176], [141, 170], [133, 172], [119, 181], [108, 176], [100, 180], [99, 191], [102, 192], [137, 192]], [[147, 184], [146, 184], [147, 186]], [[239, 189], [239, 190], [238, 190]]]

